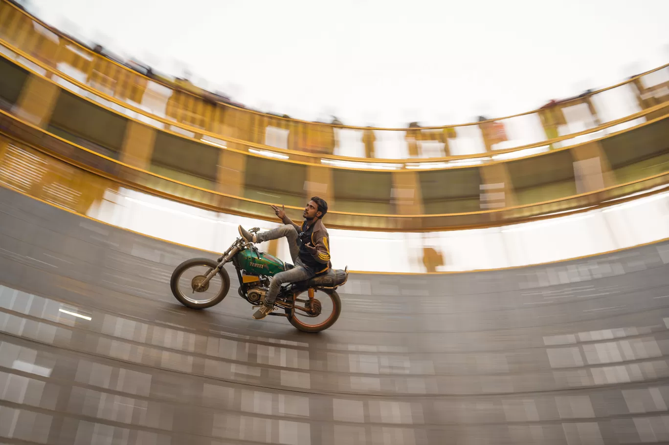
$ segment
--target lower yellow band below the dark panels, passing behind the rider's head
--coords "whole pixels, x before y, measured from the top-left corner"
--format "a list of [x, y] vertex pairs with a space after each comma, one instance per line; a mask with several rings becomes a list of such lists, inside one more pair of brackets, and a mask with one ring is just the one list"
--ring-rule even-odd
[[[0, 134], [0, 180], [35, 196], [33, 188], [47, 187], [54, 195], [52, 200], [60, 205], [64, 205], [60, 202], [63, 196], [73, 202], [79, 202], [76, 196], [81, 196], [81, 202], [91, 205], [102, 198], [104, 190], [126, 187], [209, 210], [275, 220], [268, 202], [207, 190], [134, 168], [76, 146], [5, 112], [0, 113]], [[398, 215], [331, 210], [328, 227], [419, 232], [508, 225], [624, 202], [655, 192], [666, 184], [669, 184], [669, 172], [662, 172], [563, 199], [476, 212]], [[87, 187], [90, 190], [84, 191]], [[66, 189], [67, 192], [62, 191]], [[42, 196], [45, 192], [39, 193]], [[82, 211], [81, 208], [76, 210]], [[288, 206], [287, 210], [289, 216], [299, 218], [302, 209]]]

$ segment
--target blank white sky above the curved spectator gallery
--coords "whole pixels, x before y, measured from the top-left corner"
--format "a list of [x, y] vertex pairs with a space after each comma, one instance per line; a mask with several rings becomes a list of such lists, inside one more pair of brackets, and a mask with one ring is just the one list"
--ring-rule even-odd
[[187, 67], [248, 106], [351, 125], [505, 116], [669, 61], [669, 0], [31, 3], [56, 27], [171, 75]]

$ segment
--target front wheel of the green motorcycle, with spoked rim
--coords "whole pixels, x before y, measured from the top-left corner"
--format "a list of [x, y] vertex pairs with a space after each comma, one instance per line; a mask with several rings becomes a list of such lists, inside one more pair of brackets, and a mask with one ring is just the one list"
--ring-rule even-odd
[[221, 268], [207, 285], [197, 289], [217, 266], [216, 261], [207, 258], [193, 258], [178, 265], [172, 273], [170, 287], [179, 303], [192, 309], [206, 309], [223, 301], [230, 289], [230, 277], [225, 269]]

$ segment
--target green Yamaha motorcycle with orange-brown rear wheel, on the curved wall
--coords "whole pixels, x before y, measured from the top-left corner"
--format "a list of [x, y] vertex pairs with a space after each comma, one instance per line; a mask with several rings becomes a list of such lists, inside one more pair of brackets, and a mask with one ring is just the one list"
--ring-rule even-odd
[[[258, 233], [258, 227], [250, 233]], [[193, 258], [181, 263], [172, 273], [170, 287], [181, 304], [205, 309], [223, 301], [230, 289], [230, 277], [223, 265], [232, 263], [240, 280], [240, 297], [260, 306], [268, 292], [270, 280], [292, 265], [258, 250], [242, 238], [217, 260]], [[348, 268], [330, 269], [307, 281], [282, 285], [270, 315], [286, 317], [290, 324], [304, 332], [320, 332], [332, 326], [341, 314], [337, 288], [349, 279]]]

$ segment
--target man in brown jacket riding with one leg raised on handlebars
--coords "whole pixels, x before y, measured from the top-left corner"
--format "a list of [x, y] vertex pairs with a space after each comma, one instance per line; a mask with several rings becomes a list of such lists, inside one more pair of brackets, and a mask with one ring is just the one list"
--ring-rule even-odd
[[265, 318], [274, 310], [274, 300], [280, 287], [284, 283], [305, 281], [320, 273], [327, 272], [330, 267], [330, 237], [322, 223], [322, 217], [328, 212], [328, 203], [322, 198], [314, 196], [304, 208], [304, 223], [298, 226], [286, 216], [286, 208], [272, 206], [276, 216], [283, 221], [284, 226], [267, 232], [251, 234], [239, 227], [240, 236], [248, 243], [263, 243], [272, 239], [285, 237], [288, 240], [290, 257], [294, 268], [280, 272], [272, 277], [270, 290], [265, 296], [264, 303], [254, 313], [256, 320]]

